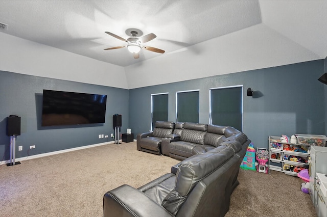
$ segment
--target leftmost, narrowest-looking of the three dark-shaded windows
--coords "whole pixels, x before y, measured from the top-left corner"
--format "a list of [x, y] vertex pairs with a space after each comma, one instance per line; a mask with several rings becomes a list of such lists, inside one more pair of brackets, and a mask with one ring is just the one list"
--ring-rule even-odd
[[151, 130], [156, 121], [168, 121], [168, 93], [151, 95]]

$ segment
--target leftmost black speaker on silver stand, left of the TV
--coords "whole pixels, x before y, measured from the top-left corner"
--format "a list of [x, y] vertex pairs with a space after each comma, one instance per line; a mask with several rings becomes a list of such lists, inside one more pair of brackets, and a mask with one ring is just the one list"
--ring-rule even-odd
[[10, 115], [7, 118], [7, 135], [10, 136], [10, 163], [7, 166], [20, 164], [16, 162], [16, 137], [20, 135], [20, 117], [18, 115]]

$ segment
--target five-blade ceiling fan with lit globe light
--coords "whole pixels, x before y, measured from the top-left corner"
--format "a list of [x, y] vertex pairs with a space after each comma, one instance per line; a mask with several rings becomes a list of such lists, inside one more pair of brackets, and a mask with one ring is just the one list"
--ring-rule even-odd
[[126, 30], [126, 34], [130, 35], [131, 37], [128, 39], [124, 39], [118, 35], [115, 35], [113, 33], [110, 32], [105, 32], [108, 35], [115, 37], [116, 39], [119, 39], [121, 41], [125, 41], [128, 44], [125, 46], [117, 46], [117, 47], [109, 47], [106, 48], [104, 50], [112, 50], [112, 49], [119, 49], [119, 48], [123, 48], [123, 47], [127, 47], [127, 49], [133, 53], [133, 57], [134, 59], [138, 59], [139, 58], [139, 51], [143, 48], [152, 52], [157, 52], [157, 53], [164, 53], [165, 50], [161, 50], [159, 48], [155, 48], [155, 47], [150, 47], [150, 46], [146, 46], [143, 45], [144, 43], [151, 41], [152, 39], [155, 39], [157, 36], [154, 35], [153, 33], [150, 33], [148, 35], [145, 35], [141, 38], [137, 38], [137, 35], [142, 36], [142, 31], [141, 30], [137, 30], [137, 29], [128, 29]]

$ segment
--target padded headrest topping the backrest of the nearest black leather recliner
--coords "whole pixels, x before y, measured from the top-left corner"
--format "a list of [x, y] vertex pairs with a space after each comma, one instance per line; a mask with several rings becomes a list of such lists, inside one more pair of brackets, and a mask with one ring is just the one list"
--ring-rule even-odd
[[176, 174], [175, 191], [181, 197], [188, 195], [198, 181], [220, 168], [233, 155], [230, 147], [219, 146], [183, 160]]

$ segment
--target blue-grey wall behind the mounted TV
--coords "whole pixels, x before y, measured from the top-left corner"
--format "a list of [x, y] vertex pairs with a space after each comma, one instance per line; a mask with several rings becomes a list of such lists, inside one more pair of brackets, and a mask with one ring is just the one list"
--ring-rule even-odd
[[[103, 124], [41, 127], [43, 89], [107, 95]], [[113, 114], [122, 115], [122, 129], [128, 128], [128, 90], [0, 71], [0, 156], [10, 158], [7, 117], [21, 117], [21, 135], [16, 139], [16, 158], [113, 141]], [[98, 135], [109, 135], [99, 139]], [[22, 145], [23, 150], [17, 151]]]

